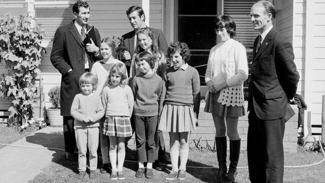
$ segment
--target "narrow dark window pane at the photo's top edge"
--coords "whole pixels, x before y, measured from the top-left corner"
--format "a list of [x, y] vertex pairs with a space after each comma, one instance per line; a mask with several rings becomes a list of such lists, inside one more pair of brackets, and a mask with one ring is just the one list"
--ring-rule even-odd
[[216, 15], [216, 0], [178, 0], [178, 14]]

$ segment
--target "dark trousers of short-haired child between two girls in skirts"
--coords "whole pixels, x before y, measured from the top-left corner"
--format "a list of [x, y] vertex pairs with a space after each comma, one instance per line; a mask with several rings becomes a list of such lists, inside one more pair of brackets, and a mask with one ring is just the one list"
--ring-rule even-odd
[[154, 135], [157, 127], [157, 115], [134, 115], [135, 143], [139, 162], [154, 162]]

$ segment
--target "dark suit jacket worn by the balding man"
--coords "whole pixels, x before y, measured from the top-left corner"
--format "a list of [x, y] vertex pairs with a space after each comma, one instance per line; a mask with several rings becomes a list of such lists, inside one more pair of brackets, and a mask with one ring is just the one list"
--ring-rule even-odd
[[275, 28], [265, 36], [256, 53], [254, 41], [251, 80], [248, 87], [248, 110], [258, 118], [281, 118], [288, 110], [288, 99], [297, 89], [299, 73], [293, 61], [291, 43]]

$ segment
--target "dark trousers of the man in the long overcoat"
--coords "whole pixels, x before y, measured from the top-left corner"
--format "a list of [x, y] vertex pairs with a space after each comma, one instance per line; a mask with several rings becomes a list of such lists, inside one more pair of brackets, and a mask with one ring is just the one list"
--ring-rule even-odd
[[74, 118], [72, 116], [63, 116], [63, 136], [65, 152], [74, 152], [75, 135], [74, 135]]

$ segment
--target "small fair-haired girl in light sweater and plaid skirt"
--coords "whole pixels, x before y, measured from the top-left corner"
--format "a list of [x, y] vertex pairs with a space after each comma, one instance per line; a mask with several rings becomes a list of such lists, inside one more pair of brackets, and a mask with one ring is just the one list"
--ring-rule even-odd
[[102, 90], [101, 102], [106, 117], [102, 133], [109, 136], [110, 179], [125, 179], [122, 173], [125, 157], [124, 142], [125, 137], [132, 136], [130, 116], [134, 102], [132, 90], [127, 85], [125, 65], [115, 63], [109, 69], [107, 80], [108, 85]]

